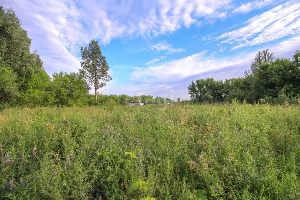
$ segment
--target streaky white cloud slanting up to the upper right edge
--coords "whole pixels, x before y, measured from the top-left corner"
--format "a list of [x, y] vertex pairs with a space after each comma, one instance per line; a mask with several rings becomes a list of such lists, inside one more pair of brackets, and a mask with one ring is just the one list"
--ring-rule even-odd
[[300, 3], [287, 2], [256, 15], [246, 22], [246, 26], [224, 33], [218, 39], [221, 43], [233, 42], [232, 50], [243, 46], [253, 46], [300, 33]]

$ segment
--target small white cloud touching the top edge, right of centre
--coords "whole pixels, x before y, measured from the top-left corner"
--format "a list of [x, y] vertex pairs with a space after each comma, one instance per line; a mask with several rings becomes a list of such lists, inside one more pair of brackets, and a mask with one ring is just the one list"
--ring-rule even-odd
[[262, 7], [279, 3], [282, 0], [256, 0], [256, 1], [249, 1], [246, 4], [241, 4], [241, 6], [235, 8], [232, 13], [248, 13], [251, 10], [257, 10]]

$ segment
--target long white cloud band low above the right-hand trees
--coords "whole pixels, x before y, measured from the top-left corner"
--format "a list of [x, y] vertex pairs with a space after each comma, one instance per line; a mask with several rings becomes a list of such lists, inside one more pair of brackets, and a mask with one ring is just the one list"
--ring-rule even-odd
[[[300, 46], [298, 42], [300, 37], [293, 37], [276, 45], [269, 46], [270, 51], [275, 56], [280, 56], [286, 52], [287, 48], [296, 49]], [[278, 49], [278, 46], [282, 48]], [[238, 55], [232, 57], [222, 58], [216, 57], [216, 52], [211, 55], [207, 55], [207, 52], [199, 52], [194, 55], [158, 64], [156, 66], [139, 68], [135, 70], [131, 75], [131, 80], [146, 80], [148, 77], [155, 79], [156, 82], [169, 82], [173, 80], [182, 80], [190, 76], [197, 74], [212, 72], [220, 70], [226, 67], [239, 67], [245, 64], [249, 64], [255, 57], [255, 54], [261, 49], [256, 49], [252, 52], [241, 52]]]

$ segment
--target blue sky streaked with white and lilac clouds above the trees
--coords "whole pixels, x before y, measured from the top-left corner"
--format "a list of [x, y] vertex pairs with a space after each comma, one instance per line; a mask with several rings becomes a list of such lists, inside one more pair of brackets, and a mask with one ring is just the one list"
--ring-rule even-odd
[[113, 80], [103, 94], [189, 99], [192, 80], [242, 76], [268, 48], [300, 49], [300, 1], [2, 0], [12, 7], [44, 67], [76, 72], [80, 46], [101, 44]]

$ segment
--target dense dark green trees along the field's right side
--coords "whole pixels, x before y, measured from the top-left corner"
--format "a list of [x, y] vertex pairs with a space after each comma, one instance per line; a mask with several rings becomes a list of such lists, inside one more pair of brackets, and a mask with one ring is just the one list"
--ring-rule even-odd
[[197, 79], [188, 86], [192, 102], [300, 104], [300, 52], [292, 59], [275, 58], [269, 49], [259, 51], [243, 77], [217, 81]]

